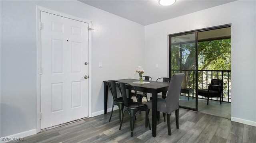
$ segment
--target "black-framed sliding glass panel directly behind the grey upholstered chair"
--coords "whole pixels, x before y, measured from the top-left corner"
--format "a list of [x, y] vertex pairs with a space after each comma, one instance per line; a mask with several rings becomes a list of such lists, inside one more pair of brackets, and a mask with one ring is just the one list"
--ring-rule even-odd
[[169, 35], [169, 77], [184, 73], [179, 106], [198, 110], [197, 96], [197, 32]]

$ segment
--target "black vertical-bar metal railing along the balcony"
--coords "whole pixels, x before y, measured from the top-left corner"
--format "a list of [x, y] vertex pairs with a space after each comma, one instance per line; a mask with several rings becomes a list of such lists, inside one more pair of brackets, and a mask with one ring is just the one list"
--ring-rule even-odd
[[[171, 70], [171, 75], [174, 73], [184, 73], [185, 77], [182, 83], [183, 89], [188, 89], [192, 91], [193, 94], [184, 94], [184, 96], [196, 97], [194, 93], [196, 84], [198, 83], [208, 83], [210, 84], [212, 78], [213, 79], [222, 79], [223, 80], [223, 91], [222, 98], [223, 102], [231, 102], [231, 71], [230, 70], [198, 70], [198, 83], [196, 83], [196, 76], [194, 70]], [[198, 89], [207, 89], [208, 86], [198, 85]], [[191, 93], [191, 92], [190, 92]], [[198, 96], [198, 98], [204, 98], [202, 96]], [[210, 100], [217, 100], [217, 98], [211, 98]]]

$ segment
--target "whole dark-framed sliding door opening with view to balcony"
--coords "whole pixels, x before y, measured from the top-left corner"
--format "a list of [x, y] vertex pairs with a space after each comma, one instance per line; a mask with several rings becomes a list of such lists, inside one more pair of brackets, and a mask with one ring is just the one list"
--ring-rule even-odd
[[[185, 74], [179, 100], [181, 108], [231, 118], [230, 26], [169, 35], [169, 77], [174, 73]], [[216, 88], [218, 96], [211, 94], [215, 92], [210, 85], [214, 79], [222, 81]]]

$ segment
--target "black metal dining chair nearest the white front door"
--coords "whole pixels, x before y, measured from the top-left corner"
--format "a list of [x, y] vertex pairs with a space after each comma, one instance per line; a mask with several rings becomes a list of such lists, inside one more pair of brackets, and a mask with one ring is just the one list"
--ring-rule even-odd
[[[116, 90], [116, 84], [118, 83], [118, 81], [115, 81], [115, 80], [108, 80], [108, 86], [110, 88], [110, 91], [112, 93], [112, 96], [113, 96], [113, 105], [112, 105], [112, 111], [111, 111], [111, 114], [110, 114], [110, 118], [109, 118], [109, 122], [111, 120], [111, 117], [112, 117], [112, 114], [113, 114], [113, 108], [114, 106], [118, 106], [119, 108], [119, 121], [121, 122], [121, 119], [122, 119], [122, 113], [123, 113], [123, 109], [124, 109], [124, 101], [123, 101], [123, 98], [122, 97], [117, 97], [117, 90]], [[128, 102], [133, 102], [132, 99], [127, 99]]]

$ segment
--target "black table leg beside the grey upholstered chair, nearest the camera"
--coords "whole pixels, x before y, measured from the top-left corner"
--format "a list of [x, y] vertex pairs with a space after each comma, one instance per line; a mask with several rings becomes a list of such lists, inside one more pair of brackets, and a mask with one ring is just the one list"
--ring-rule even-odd
[[157, 93], [152, 93], [152, 136], [156, 137]]

